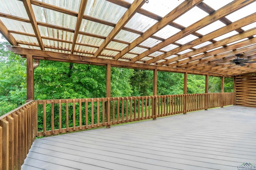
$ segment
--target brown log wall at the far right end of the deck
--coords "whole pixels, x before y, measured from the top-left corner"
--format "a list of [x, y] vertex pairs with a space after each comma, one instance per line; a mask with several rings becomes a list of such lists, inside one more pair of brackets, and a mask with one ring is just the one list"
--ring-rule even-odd
[[237, 76], [234, 81], [236, 85], [236, 105], [256, 107], [256, 75]]

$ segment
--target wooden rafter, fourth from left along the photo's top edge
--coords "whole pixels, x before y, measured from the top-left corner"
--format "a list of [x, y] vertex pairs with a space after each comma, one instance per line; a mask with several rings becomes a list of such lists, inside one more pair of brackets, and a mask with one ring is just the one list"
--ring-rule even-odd
[[[128, 47], [123, 49], [118, 55], [116, 55], [115, 59], [119, 59], [122, 57], [125, 53], [132, 50], [136, 45], [140, 44], [141, 42], [145, 41], [156, 33], [159, 29], [165, 27], [170, 22], [174, 21], [176, 18], [180, 17], [182, 14], [186, 13], [188, 10], [196, 6], [202, 2], [202, 0], [196, 0], [196, 1], [185, 1], [182, 4], [180, 4], [178, 7], [176, 7], [174, 10], [172, 10], [169, 14], [167, 14], [164, 18], [162, 18], [160, 21], [158, 21], [156, 24], [154, 24], [150, 29], [148, 29], [145, 33], [143, 33], [140, 37], [138, 37], [135, 41], [133, 41]], [[131, 61], [137, 61], [139, 59], [142, 59], [143, 57], [133, 58]]]

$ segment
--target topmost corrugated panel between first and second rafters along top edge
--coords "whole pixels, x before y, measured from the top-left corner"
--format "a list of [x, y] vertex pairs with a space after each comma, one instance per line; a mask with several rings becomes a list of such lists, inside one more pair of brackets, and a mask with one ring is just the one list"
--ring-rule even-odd
[[81, 0], [37, 0], [70, 11], [78, 12]]

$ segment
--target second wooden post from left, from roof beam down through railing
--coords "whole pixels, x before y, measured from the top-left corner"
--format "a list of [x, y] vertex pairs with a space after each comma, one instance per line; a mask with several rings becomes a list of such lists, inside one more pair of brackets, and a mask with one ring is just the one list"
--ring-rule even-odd
[[[106, 97], [111, 97], [111, 64], [107, 64], [106, 67]], [[108, 125], [106, 128], [110, 128], [110, 100], [106, 104], [106, 120], [108, 121]]]

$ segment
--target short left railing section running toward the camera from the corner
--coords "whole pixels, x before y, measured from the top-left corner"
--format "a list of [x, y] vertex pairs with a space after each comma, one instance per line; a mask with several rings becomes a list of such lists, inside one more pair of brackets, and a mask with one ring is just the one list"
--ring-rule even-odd
[[20, 169], [37, 135], [36, 101], [0, 117], [0, 170]]

